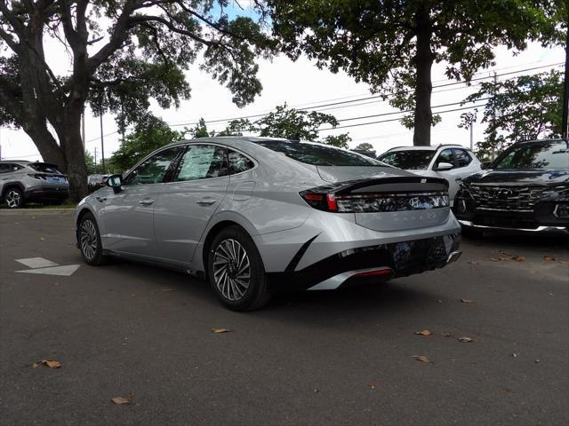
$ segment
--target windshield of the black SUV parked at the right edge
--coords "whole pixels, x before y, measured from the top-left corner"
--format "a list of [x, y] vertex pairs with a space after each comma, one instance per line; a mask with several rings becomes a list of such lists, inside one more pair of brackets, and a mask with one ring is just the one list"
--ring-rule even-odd
[[493, 163], [493, 169], [569, 169], [569, 149], [562, 141], [511, 146]]

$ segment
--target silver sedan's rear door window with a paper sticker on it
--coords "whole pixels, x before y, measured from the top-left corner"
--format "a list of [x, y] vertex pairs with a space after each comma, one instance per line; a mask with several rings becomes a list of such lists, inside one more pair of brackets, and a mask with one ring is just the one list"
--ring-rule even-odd
[[180, 160], [176, 182], [227, 176], [225, 148], [213, 145], [190, 145]]

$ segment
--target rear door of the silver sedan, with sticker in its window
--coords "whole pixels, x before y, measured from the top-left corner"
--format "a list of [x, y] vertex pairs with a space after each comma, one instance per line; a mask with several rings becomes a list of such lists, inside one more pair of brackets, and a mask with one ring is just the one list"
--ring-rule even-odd
[[227, 149], [189, 144], [154, 211], [157, 256], [188, 264], [229, 184]]

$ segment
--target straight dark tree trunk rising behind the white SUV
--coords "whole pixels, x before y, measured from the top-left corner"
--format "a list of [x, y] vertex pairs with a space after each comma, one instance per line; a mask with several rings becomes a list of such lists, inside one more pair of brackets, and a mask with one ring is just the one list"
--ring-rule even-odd
[[415, 16], [415, 31], [417, 35], [417, 52], [415, 54], [415, 114], [414, 114], [414, 146], [430, 146], [430, 128], [433, 114], [430, 109], [430, 97], [433, 84], [430, 70], [433, 66], [434, 55], [431, 51], [432, 22], [429, 8], [421, 4]]

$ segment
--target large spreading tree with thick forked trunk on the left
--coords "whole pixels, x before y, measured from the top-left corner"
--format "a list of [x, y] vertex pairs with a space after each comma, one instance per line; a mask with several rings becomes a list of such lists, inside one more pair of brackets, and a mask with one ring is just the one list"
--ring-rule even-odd
[[[121, 129], [138, 122], [149, 99], [178, 106], [190, 95], [183, 70], [202, 49], [201, 68], [227, 85], [237, 106], [260, 93], [255, 59], [274, 44], [250, 18], [229, 18], [228, 7], [227, 0], [0, 0], [0, 123], [26, 131], [80, 198], [85, 104], [116, 114]], [[57, 41], [71, 57], [68, 75], [48, 65], [44, 45]]]

